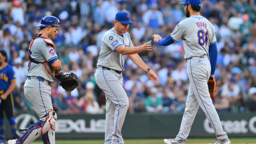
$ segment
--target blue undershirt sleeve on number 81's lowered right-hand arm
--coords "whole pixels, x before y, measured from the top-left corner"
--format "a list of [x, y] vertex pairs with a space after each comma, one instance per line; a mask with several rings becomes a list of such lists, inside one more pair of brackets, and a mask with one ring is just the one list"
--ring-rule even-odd
[[211, 75], [214, 75], [216, 63], [217, 63], [217, 44], [216, 41], [209, 45], [209, 57], [210, 57], [210, 64], [211, 64]]

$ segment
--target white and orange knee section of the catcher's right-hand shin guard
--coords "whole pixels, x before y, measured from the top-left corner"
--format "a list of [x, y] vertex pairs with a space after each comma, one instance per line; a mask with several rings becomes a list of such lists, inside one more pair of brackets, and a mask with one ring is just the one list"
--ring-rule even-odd
[[46, 122], [44, 123], [44, 127], [42, 128], [42, 134], [45, 134], [47, 131], [52, 129], [55, 131], [56, 128], [56, 120], [57, 120], [57, 114], [51, 110], [46, 117]]

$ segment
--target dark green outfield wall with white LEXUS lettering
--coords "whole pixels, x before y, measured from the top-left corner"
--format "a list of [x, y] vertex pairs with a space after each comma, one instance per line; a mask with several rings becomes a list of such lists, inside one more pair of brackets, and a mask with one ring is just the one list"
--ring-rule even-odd
[[[183, 113], [175, 114], [127, 114], [122, 134], [124, 138], [171, 138], [180, 128]], [[255, 137], [256, 114], [219, 114], [224, 131], [229, 137]], [[16, 114], [18, 129], [26, 129], [30, 121], [38, 121], [36, 114]], [[5, 119], [6, 138], [11, 138], [10, 126]], [[104, 139], [105, 115], [58, 114], [56, 139]], [[17, 132], [18, 135], [23, 134]], [[189, 137], [215, 137], [212, 126], [204, 113], [198, 113]]]

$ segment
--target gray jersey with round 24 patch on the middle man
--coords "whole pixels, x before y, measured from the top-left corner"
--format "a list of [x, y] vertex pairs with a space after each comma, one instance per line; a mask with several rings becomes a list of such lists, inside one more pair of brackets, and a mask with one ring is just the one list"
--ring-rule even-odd
[[101, 40], [101, 52], [97, 65], [120, 72], [124, 70], [124, 55], [115, 52], [115, 49], [121, 45], [133, 47], [133, 44], [128, 32], [124, 33], [123, 36], [118, 35], [114, 28], [105, 32]]

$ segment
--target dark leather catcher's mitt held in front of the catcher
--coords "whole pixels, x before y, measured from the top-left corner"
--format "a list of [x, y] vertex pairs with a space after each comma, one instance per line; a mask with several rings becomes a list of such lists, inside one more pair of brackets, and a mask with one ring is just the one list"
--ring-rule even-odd
[[79, 86], [78, 77], [73, 72], [61, 72], [59, 75], [55, 76], [61, 81], [60, 86], [66, 91], [73, 91], [77, 86]]

